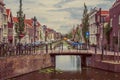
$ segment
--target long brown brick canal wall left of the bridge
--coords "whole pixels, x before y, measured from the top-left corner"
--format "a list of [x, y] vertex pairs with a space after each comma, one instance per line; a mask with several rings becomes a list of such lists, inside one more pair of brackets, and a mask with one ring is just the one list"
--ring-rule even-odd
[[50, 66], [52, 66], [52, 62], [49, 54], [1, 57], [0, 80], [5, 80]]

